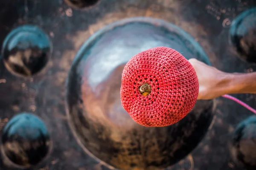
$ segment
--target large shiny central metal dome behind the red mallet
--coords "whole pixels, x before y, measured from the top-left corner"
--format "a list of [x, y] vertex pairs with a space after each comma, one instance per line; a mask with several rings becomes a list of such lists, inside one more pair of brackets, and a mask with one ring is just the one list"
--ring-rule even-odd
[[163, 20], [120, 20], [93, 34], [79, 49], [67, 78], [68, 120], [81, 146], [121, 170], [158, 170], [187, 156], [212, 121], [213, 100], [198, 100], [180, 122], [144, 127], [121, 104], [122, 70], [134, 55], [157, 46], [180, 51], [207, 64], [189, 34]]

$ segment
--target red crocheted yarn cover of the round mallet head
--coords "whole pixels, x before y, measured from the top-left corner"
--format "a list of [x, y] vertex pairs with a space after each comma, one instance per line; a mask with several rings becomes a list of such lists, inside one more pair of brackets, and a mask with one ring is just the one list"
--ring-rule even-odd
[[[151, 85], [143, 96], [140, 86]], [[131, 118], [147, 127], [183, 119], [198, 97], [198, 77], [190, 62], [172, 48], [157, 47], [132, 57], [122, 73], [121, 102]]]

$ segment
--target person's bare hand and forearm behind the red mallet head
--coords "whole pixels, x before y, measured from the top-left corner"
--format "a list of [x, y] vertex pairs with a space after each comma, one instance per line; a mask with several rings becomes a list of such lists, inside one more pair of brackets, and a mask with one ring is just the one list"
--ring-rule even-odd
[[198, 76], [198, 99], [214, 99], [224, 94], [256, 94], [256, 72], [226, 73], [197, 59], [189, 59]]

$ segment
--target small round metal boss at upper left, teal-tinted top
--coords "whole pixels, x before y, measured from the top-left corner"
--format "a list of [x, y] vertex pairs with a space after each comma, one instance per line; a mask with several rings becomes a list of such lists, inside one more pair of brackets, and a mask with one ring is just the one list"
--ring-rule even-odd
[[6, 68], [19, 76], [40, 72], [49, 61], [52, 44], [38, 27], [25, 25], [15, 28], [5, 38], [2, 57]]

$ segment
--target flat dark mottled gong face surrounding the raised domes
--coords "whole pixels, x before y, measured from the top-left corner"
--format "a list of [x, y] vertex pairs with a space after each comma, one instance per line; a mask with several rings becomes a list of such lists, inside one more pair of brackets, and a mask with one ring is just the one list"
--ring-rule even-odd
[[[114, 21], [156, 17], [180, 26], [195, 37], [216, 68], [227, 72], [255, 71], [255, 65], [239, 59], [228, 42], [231, 22], [253, 6], [256, 6], [254, 0], [101, 0], [91, 8], [76, 10], [62, 0], [2, 0], [0, 45], [12, 29], [32, 24], [48, 34], [53, 51], [46, 67], [33, 77], [12, 75], [1, 60], [0, 128], [17, 113], [35, 113], [44, 120], [53, 139], [53, 150], [43, 170], [106, 170], [102, 162], [91, 158], [79, 146], [65, 113], [65, 79], [84, 41]], [[256, 108], [255, 95], [234, 96]], [[228, 134], [250, 115], [250, 111], [233, 101], [218, 98], [214, 121], [206, 137], [187, 158], [170, 169], [240, 170], [231, 159]], [[13, 170], [3, 161], [0, 168]]]

